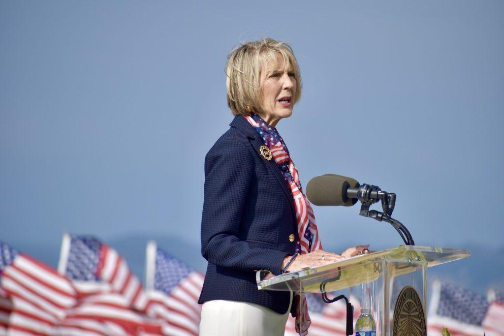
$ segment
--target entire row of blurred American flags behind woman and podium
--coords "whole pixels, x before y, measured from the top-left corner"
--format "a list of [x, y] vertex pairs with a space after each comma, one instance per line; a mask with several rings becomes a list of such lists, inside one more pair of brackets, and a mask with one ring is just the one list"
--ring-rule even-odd
[[[146, 249], [145, 286], [117, 251], [91, 236], [64, 235], [58, 269], [0, 241], [0, 336], [198, 335], [204, 276], [155, 242]], [[428, 335], [504, 336], [504, 295], [481, 296], [435, 282]], [[346, 306], [307, 294], [310, 336], [345, 335]], [[360, 314], [359, 302], [354, 321]], [[295, 335], [289, 317], [287, 336]]]

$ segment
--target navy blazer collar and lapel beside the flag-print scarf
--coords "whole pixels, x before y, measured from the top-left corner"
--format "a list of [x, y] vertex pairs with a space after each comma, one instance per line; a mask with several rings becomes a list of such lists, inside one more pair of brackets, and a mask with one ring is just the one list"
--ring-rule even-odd
[[280, 183], [280, 186], [282, 187], [285, 196], [287, 196], [287, 199], [289, 199], [289, 204], [292, 208], [292, 212], [294, 214], [294, 218], [296, 218], [296, 210], [294, 209], [294, 198], [292, 197], [292, 192], [287, 185], [287, 182], [285, 182], [285, 179], [282, 175], [282, 172], [280, 171], [280, 168], [278, 168], [277, 163], [275, 162], [274, 159], [271, 159], [270, 161], [266, 160], [261, 156], [260, 148], [261, 146], [264, 146], [263, 139], [261, 139], [257, 133], [257, 131], [254, 129], [252, 125], [248, 123], [248, 121], [243, 118], [241, 115], [237, 115], [234, 117], [233, 121], [229, 124], [232, 127], [236, 127], [239, 130], [241, 130], [248, 138], [250, 138], [250, 144], [254, 149], [256, 150], [257, 154], [261, 157], [261, 160], [266, 164], [266, 166], [270, 169], [270, 171], [275, 175], [275, 177], [278, 180], [278, 183]]

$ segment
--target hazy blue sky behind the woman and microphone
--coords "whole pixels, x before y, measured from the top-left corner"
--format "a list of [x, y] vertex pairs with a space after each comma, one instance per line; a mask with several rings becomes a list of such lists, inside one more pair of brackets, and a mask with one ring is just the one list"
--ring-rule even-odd
[[[498, 1], [2, 2], [0, 239], [52, 265], [64, 232], [201, 262], [226, 55], [268, 36], [300, 64], [277, 129], [303, 185], [352, 176], [397, 193], [418, 245], [502, 250], [503, 18]], [[358, 211], [315, 208], [326, 249], [401, 243]]]

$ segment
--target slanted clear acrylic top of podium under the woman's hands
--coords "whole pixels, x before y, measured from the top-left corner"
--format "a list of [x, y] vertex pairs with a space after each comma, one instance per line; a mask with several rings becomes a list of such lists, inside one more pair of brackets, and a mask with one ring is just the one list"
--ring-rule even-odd
[[302, 287], [303, 291], [312, 293], [320, 293], [320, 284], [325, 281], [325, 291], [332, 292], [375, 281], [382, 275], [384, 267], [391, 277], [395, 277], [413, 272], [418, 267], [436, 266], [470, 255], [471, 251], [464, 249], [399, 245], [279, 276], [258, 271], [256, 280], [260, 290], [299, 291]]

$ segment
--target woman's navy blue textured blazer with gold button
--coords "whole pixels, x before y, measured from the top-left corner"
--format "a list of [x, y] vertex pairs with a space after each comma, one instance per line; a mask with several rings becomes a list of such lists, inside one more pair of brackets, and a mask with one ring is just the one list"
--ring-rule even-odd
[[279, 275], [284, 257], [295, 253], [292, 193], [275, 160], [260, 155], [264, 142], [254, 127], [242, 116], [230, 126], [205, 157], [201, 252], [208, 268], [199, 303], [250, 302], [284, 314], [290, 293], [258, 290], [256, 270]]

